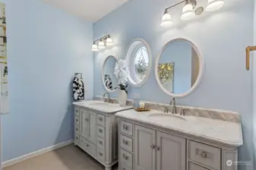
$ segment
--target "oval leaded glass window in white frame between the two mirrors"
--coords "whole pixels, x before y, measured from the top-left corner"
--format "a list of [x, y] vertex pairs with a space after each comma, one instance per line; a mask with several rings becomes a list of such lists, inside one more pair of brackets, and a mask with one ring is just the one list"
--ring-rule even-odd
[[151, 54], [147, 42], [135, 39], [128, 47], [126, 54], [128, 63], [128, 81], [134, 87], [141, 87], [150, 75]]

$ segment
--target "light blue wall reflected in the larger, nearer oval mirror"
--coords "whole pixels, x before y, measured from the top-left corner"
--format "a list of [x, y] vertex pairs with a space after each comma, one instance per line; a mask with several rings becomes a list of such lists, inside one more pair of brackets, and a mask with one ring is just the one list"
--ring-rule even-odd
[[159, 63], [174, 62], [173, 93], [183, 94], [191, 88], [192, 48], [187, 42], [170, 42]]

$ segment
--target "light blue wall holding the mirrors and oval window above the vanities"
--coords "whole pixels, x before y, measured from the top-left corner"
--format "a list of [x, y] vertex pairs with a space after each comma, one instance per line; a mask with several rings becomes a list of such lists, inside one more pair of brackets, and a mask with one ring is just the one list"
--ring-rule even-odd
[[[170, 29], [161, 29], [164, 8], [173, 0], [131, 0], [94, 24], [94, 39], [110, 34], [115, 48], [95, 55], [94, 95], [103, 95], [100, 66], [108, 55], [125, 57], [129, 42], [145, 39], [153, 54], [153, 67], [157, 54], [171, 39], [182, 37], [191, 40], [205, 60], [204, 77], [198, 89], [179, 104], [233, 110], [242, 116], [244, 145], [239, 149], [239, 160], [253, 159], [252, 71], [245, 70], [245, 47], [253, 44], [253, 0], [226, 0], [225, 7], [213, 13], [204, 13], [194, 20], [179, 20], [182, 6], [173, 8], [176, 23]], [[207, 3], [207, 1], [200, 1]], [[150, 92], [149, 92], [150, 91]], [[153, 69], [141, 88], [128, 88], [128, 97], [141, 94], [142, 100], [169, 103], [170, 97], [156, 84]], [[117, 96], [115, 92], [112, 96]], [[240, 169], [253, 169], [242, 165]]]

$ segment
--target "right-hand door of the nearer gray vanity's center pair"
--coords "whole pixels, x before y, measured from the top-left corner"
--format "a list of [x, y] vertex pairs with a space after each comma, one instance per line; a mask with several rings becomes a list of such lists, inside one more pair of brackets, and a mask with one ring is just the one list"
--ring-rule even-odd
[[185, 170], [185, 138], [156, 132], [157, 170]]

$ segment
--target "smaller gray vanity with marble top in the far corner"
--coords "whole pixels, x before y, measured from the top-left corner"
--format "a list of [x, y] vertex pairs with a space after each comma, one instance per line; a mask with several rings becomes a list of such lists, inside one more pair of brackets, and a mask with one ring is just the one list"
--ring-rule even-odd
[[111, 169], [118, 162], [118, 125], [115, 113], [131, 107], [119, 107], [100, 100], [74, 102], [74, 144]]

